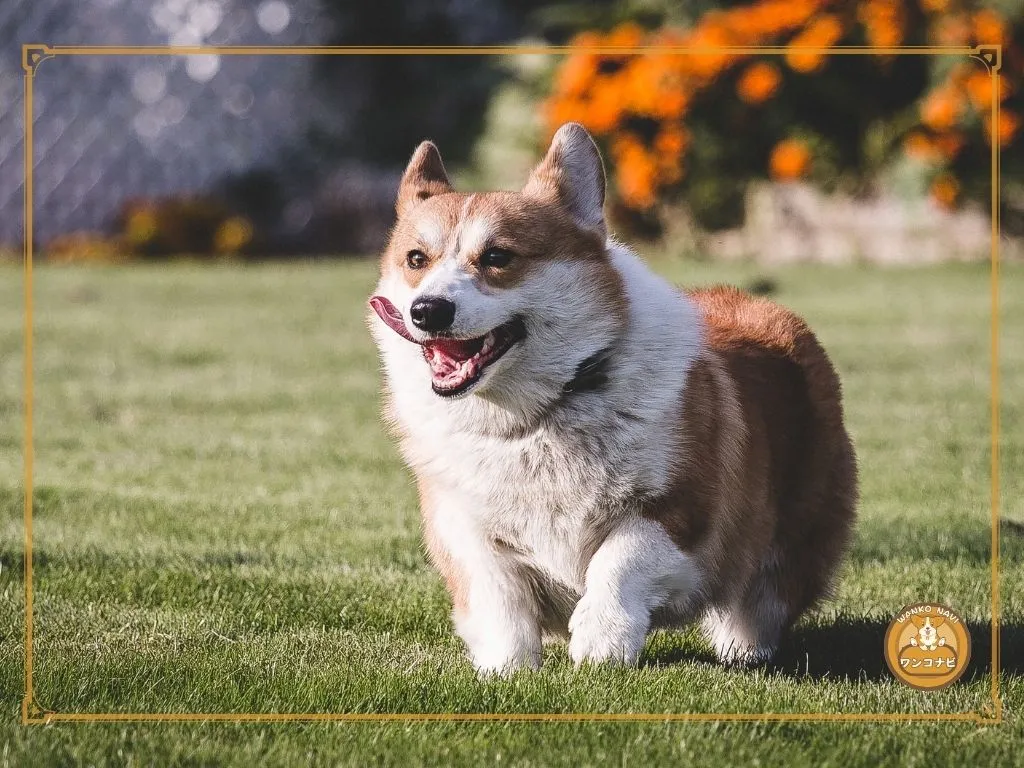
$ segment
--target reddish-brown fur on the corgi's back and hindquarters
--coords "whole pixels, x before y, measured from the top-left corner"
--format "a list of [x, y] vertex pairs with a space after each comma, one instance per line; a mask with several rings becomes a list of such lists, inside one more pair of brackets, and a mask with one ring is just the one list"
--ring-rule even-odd
[[708, 350], [685, 388], [679, 480], [644, 514], [728, 569], [713, 584], [742, 587], [774, 551], [772, 583], [792, 621], [827, 594], [853, 522], [839, 379], [790, 310], [734, 288], [689, 295]]

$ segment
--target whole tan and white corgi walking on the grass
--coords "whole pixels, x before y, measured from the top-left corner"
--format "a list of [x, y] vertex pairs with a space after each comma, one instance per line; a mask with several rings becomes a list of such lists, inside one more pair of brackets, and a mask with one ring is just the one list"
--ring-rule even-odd
[[604, 196], [577, 124], [520, 191], [456, 191], [429, 141], [406, 169], [369, 324], [430, 559], [480, 673], [697, 621], [763, 663], [850, 539], [839, 379], [791, 311], [654, 274]]

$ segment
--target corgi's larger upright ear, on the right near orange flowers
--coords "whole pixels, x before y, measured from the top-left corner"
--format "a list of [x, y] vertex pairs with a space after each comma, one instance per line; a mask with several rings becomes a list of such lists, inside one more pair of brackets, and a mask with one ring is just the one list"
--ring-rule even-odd
[[578, 226], [603, 240], [604, 183], [604, 165], [594, 139], [579, 123], [566, 123], [551, 139], [548, 154], [530, 173], [522, 194], [556, 201]]

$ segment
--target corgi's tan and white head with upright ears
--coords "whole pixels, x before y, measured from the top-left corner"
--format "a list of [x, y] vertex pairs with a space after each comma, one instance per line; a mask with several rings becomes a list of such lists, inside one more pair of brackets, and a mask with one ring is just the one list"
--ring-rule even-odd
[[457, 193], [437, 147], [420, 144], [370, 300], [382, 348], [418, 356], [402, 375], [443, 398], [527, 411], [556, 398], [625, 321], [604, 184], [597, 146], [575, 124], [517, 193]]

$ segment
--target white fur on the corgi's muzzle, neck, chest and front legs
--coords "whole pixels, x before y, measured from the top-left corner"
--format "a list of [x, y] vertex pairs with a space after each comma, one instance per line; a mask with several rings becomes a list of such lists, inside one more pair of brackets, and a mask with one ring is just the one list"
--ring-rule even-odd
[[[480, 671], [535, 667], [542, 630], [566, 628], [578, 663], [634, 662], [652, 611], [701, 608], [699, 563], [636, 504], [673, 479], [698, 313], [628, 248], [607, 247], [628, 298], [625, 328], [596, 306], [584, 261], [546, 262], [488, 295], [461, 281], [449, 254], [415, 292], [401, 281], [378, 286], [403, 312], [414, 295], [443, 290], [460, 333], [517, 314], [526, 324], [526, 339], [470, 394], [445, 399], [431, 390], [420, 347], [373, 321], [402, 452], [436, 489], [436, 535], [469, 584], [456, 629]], [[563, 399], [577, 366], [608, 346], [608, 384]]]

